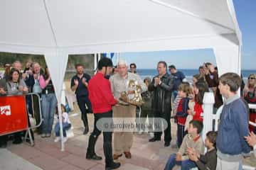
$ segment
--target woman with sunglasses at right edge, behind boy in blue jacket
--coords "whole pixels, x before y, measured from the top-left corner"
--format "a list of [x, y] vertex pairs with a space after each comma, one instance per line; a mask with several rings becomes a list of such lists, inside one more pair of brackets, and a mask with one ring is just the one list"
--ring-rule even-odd
[[[256, 74], [250, 74], [244, 89], [244, 98], [247, 103], [256, 104]], [[250, 109], [250, 121], [256, 123], [256, 111]], [[255, 127], [249, 125], [250, 132], [256, 131]]]

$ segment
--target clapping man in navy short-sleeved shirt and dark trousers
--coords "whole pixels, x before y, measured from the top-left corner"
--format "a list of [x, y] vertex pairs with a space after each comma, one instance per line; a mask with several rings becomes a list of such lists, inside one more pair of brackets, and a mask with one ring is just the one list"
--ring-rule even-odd
[[78, 106], [81, 111], [82, 122], [85, 125], [85, 131], [83, 132], [83, 135], [87, 135], [89, 132], [87, 113], [92, 113], [92, 106], [88, 98], [89, 93], [87, 90], [90, 75], [84, 73], [84, 68], [81, 64], [76, 64], [75, 69], [77, 74], [71, 79], [70, 87], [72, 91], [75, 91]]

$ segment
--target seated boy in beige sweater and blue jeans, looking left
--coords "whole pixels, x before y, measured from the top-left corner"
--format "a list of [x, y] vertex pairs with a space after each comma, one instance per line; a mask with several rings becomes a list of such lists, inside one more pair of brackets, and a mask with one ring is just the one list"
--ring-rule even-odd
[[203, 154], [204, 145], [200, 137], [203, 130], [203, 123], [198, 120], [191, 120], [188, 126], [188, 135], [183, 139], [180, 149], [176, 154], [171, 154], [164, 170], [171, 170], [175, 165], [181, 165], [181, 169], [192, 169], [196, 167], [196, 163], [188, 159], [188, 148], [195, 149], [197, 154]]

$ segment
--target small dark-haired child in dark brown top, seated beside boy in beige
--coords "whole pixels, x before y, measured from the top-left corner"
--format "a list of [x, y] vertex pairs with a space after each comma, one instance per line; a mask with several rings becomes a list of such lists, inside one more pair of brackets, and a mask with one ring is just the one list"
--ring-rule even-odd
[[205, 145], [207, 153], [205, 155], [197, 154], [195, 149], [187, 149], [188, 158], [196, 163], [199, 170], [215, 170], [217, 165], [216, 137], [217, 132], [210, 131], [206, 133]]

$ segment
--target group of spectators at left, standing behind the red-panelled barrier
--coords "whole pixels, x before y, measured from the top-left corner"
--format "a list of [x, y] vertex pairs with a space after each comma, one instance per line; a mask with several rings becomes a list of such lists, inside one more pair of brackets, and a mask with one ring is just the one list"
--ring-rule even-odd
[[[55, 113], [55, 107], [57, 106], [57, 99], [55, 97], [55, 90], [53, 82], [50, 78], [50, 72], [46, 67], [44, 70], [38, 62], [27, 62], [26, 68], [22, 70], [22, 64], [19, 61], [11, 64], [5, 64], [4, 77], [0, 80], [0, 95], [25, 95], [28, 93], [38, 94], [26, 96], [26, 108], [29, 115], [36, 119], [36, 125], [38, 126], [36, 132], [41, 137], [50, 137], [53, 127], [53, 118]], [[33, 101], [33, 102], [32, 102]], [[39, 102], [41, 102], [41, 108], [39, 108]], [[40, 109], [42, 111], [43, 121], [40, 116]], [[28, 120], [28, 125], [31, 126], [31, 122]], [[25, 132], [16, 132], [14, 134], [14, 144], [20, 144], [23, 142]], [[31, 130], [32, 139], [33, 131]], [[1, 147], [6, 147], [9, 140], [9, 136], [1, 136]]]

